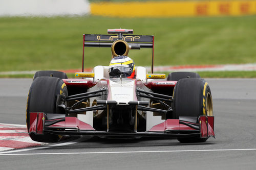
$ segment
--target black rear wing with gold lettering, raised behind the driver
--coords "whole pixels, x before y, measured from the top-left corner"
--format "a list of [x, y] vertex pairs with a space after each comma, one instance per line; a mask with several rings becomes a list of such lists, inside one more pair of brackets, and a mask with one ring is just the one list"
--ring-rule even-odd
[[122, 35], [132, 34], [133, 30], [113, 29], [108, 30], [109, 34], [83, 34], [83, 53], [82, 53], [82, 71], [84, 70], [84, 47], [111, 47], [116, 40], [124, 40], [129, 44], [130, 49], [152, 48], [152, 66], [153, 73], [154, 63], [154, 36], [152, 35]]

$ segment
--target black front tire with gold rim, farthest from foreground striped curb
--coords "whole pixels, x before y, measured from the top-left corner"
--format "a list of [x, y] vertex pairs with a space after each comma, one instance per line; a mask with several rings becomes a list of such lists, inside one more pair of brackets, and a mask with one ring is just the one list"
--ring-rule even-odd
[[[211, 91], [201, 78], [180, 79], [174, 89], [175, 118], [180, 116], [213, 115]], [[178, 138], [180, 142], [205, 142], [207, 138]]]

